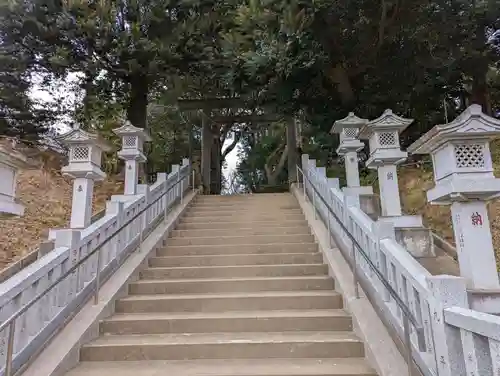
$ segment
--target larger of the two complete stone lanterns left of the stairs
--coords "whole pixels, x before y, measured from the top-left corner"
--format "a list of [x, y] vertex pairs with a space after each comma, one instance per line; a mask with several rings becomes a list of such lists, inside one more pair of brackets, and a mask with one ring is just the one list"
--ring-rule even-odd
[[62, 168], [62, 173], [74, 179], [70, 226], [85, 228], [92, 218], [94, 182], [106, 177], [101, 170], [102, 152], [110, 151], [111, 147], [97, 134], [86, 132], [79, 125], [58, 140], [69, 148], [69, 163]]

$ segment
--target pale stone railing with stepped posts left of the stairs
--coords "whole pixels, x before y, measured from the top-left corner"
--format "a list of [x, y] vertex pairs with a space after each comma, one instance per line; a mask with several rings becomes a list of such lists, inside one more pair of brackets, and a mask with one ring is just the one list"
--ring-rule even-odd
[[136, 195], [112, 196], [105, 215], [85, 229], [51, 230], [54, 249], [0, 284], [0, 375], [36, 354], [182, 200], [191, 166], [184, 160], [172, 171], [139, 185]]

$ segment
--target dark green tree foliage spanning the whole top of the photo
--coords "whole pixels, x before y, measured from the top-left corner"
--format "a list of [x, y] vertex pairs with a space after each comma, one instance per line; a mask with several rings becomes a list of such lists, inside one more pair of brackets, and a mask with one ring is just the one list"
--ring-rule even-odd
[[[247, 108], [209, 118], [257, 108], [300, 118], [303, 152], [337, 173], [330, 128], [349, 111], [414, 118], [403, 146], [445, 121], [445, 106], [449, 119], [469, 102], [498, 111], [499, 19], [498, 0], [3, 2], [0, 132], [36, 138], [50, 118], [27, 97], [30, 75], [79, 72], [77, 119], [115, 143], [123, 116], [148, 128], [150, 172], [199, 155], [201, 114], [179, 112], [175, 100], [225, 96]], [[219, 149], [243, 132], [238, 179], [247, 189], [287, 181], [283, 124], [212, 131]]]

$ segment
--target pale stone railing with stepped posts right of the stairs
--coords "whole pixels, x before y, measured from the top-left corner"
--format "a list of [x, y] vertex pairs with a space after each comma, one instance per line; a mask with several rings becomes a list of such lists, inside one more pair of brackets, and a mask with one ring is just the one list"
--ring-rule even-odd
[[[447, 292], [453, 291], [454, 299], [462, 296], [463, 301], [457, 306], [468, 308], [464, 279], [431, 276], [395, 240], [392, 223], [373, 221], [360, 209], [359, 199], [344, 194], [338, 179], [327, 178], [325, 168], [317, 167], [307, 155], [302, 156], [302, 173], [302, 187], [316, 215], [350, 263], [355, 278], [381, 319], [401, 339], [406, 349], [411, 347], [411, 358], [422, 374], [473, 375], [465, 373], [465, 368], [452, 367], [454, 351], [450, 349], [454, 344], [450, 343], [453, 339], [449, 337], [448, 327], [455, 324], [448, 321], [445, 324], [442, 319], [445, 315], [451, 317], [450, 312], [456, 308], [449, 306], [449, 299], [445, 296]], [[469, 312], [487, 317], [485, 323], [498, 320], [492, 315]], [[464, 328], [461, 328], [463, 332]], [[490, 336], [496, 338], [493, 333]], [[476, 352], [471, 356], [484, 357], [485, 354]], [[491, 353], [489, 362], [495, 361], [499, 362]], [[498, 374], [480, 372], [474, 375]]]

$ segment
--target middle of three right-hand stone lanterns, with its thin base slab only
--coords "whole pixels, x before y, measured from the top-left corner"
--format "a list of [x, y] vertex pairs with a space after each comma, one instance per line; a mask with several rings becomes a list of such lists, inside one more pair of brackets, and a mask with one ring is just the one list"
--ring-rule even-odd
[[370, 157], [366, 161], [366, 167], [376, 169], [378, 173], [381, 219], [389, 219], [396, 228], [423, 227], [421, 216], [402, 215], [399, 197], [396, 166], [408, 157], [408, 153], [400, 148], [399, 135], [412, 122], [413, 119], [405, 119], [392, 110], [385, 110], [359, 132], [359, 138], [369, 140], [370, 143]]

